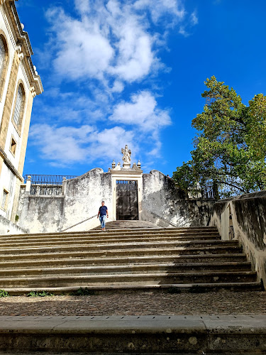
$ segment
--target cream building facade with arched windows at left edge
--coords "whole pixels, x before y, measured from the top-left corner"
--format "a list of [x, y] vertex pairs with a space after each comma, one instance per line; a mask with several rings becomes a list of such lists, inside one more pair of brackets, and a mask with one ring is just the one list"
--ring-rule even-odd
[[15, 222], [33, 98], [43, 85], [14, 0], [0, 0], [0, 217]]

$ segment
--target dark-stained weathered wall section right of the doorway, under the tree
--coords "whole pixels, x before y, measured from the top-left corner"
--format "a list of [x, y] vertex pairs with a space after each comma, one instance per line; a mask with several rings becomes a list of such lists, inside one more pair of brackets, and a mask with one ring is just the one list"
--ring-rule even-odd
[[214, 200], [187, 199], [174, 180], [158, 170], [143, 174], [143, 219], [159, 226], [206, 226]]

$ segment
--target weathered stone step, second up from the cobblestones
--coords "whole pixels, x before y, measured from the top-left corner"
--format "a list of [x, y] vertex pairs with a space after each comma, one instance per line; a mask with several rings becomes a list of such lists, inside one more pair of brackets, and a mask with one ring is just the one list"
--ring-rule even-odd
[[126, 285], [128, 283], [137, 283], [138, 285], [147, 285], [152, 283], [231, 283], [231, 282], [255, 282], [257, 273], [253, 271], [239, 272], [211, 272], [211, 273], [140, 273], [140, 274], [123, 274], [123, 275], [72, 275], [57, 277], [24, 277], [24, 278], [0, 278], [0, 288], [35, 288], [35, 287], [71, 287], [80, 285], [87, 286], [103, 286], [109, 285]]

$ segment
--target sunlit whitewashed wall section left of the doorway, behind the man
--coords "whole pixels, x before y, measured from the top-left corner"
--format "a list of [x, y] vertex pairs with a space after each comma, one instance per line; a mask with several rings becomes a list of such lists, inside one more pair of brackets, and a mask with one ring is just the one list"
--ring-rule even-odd
[[111, 178], [100, 168], [64, 182], [59, 196], [21, 192], [19, 225], [32, 233], [86, 231], [99, 225], [96, 214], [101, 201], [111, 209]]

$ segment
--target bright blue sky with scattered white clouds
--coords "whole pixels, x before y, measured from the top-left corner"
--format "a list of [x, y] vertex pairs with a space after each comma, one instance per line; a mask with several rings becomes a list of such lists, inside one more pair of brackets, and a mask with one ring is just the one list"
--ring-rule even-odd
[[35, 97], [25, 174], [82, 175], [122, 162], [172, 175], [215, 75], [244, 104], [265, 94], [265, 0], [19, 0]]

